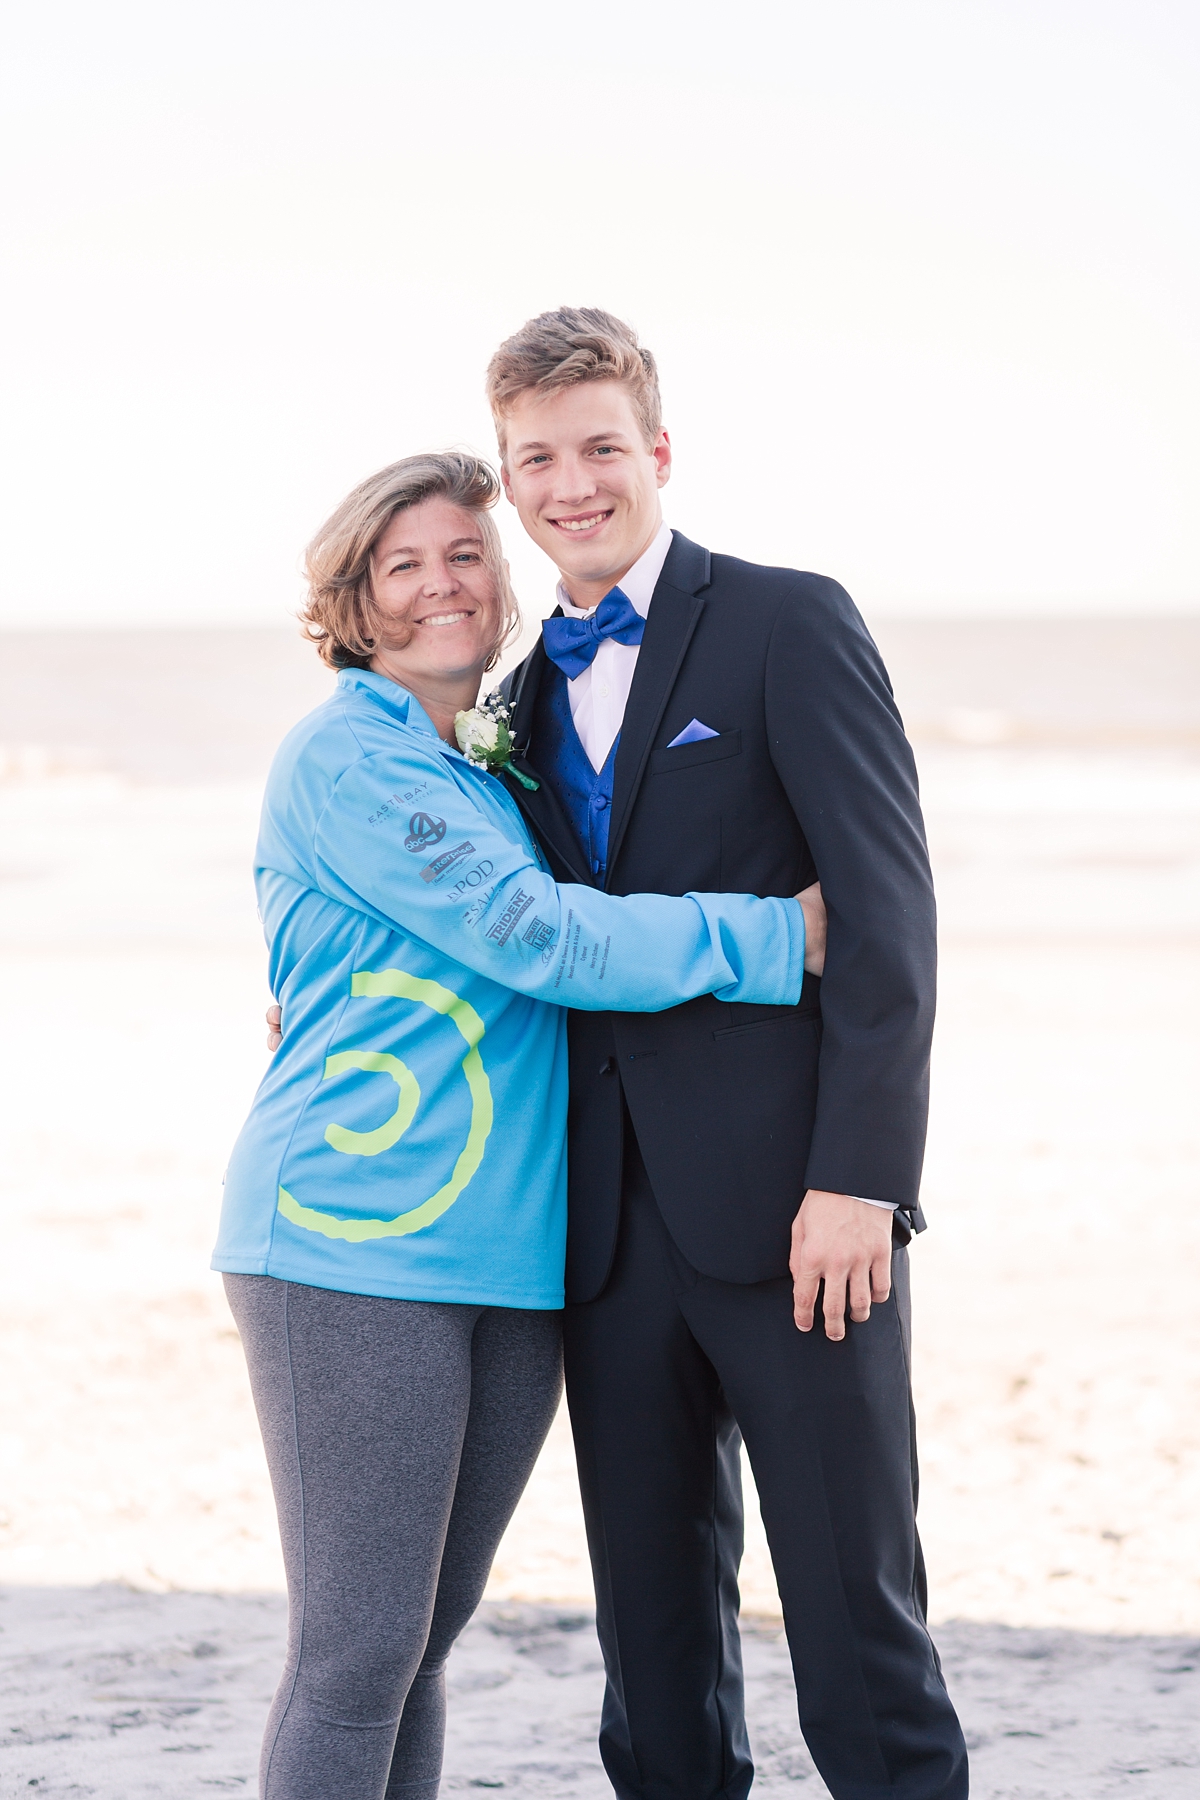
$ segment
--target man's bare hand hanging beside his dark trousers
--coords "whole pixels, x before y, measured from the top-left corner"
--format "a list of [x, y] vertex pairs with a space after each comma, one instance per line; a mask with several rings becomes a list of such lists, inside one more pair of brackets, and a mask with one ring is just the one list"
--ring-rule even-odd
[[846, 1337], [846, 1289], [856, 1325], [871, 1301], [892, 1291], [892, 1215], [849, 1193], [810, 1188], [792, 1222], [792, 1280], [797, 1330], [811, 1332], [817, 1289], [826, 1283], [826, 1337]]

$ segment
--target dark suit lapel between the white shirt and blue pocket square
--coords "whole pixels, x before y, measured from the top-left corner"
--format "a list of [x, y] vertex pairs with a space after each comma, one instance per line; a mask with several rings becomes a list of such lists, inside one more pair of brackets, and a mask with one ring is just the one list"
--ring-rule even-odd
[[608, 880], [617, 866], [658, 722], [705, 607], [698, 590], [707, 585], [709, 553], [676, 531], [649, 603], [646, 635], [621, 725], [608, 832]]

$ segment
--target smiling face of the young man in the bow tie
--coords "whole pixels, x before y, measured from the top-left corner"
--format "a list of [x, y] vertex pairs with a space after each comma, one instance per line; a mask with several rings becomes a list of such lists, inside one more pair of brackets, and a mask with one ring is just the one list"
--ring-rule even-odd
[[622, 382], [520, 394], [507, 416], [504, 491], [552, 556], [576, 605], [594, 605], [633, 567], [662, 522], [671, 443], [653, 445]]

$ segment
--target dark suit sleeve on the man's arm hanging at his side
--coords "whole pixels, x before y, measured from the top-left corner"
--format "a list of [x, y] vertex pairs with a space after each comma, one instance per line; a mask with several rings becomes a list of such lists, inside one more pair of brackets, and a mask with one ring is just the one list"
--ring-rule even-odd
[[837, 581], [801, 576], [783, 603], [766, 725], [829, 914], [804, 1184], [912, 1211], [928, 1112], [934, 884], [887, 671]]

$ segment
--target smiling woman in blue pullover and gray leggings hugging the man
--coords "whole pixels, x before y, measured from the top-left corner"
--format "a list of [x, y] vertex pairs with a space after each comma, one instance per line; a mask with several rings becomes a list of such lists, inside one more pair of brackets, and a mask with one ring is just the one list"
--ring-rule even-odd
[[266, 787], [286, 1035], [214, 1255], [288, 1568], [264, 1800], [437, 1793], [443, 1667], [560, 1393], [565, 1008], [790, 1004], [804, 974], [792, 900], [556, 886], [457, 749], [516, 617], [495, 499], [475, 457], [410, 457], [308, 553], [340, 675]]

